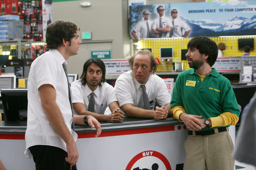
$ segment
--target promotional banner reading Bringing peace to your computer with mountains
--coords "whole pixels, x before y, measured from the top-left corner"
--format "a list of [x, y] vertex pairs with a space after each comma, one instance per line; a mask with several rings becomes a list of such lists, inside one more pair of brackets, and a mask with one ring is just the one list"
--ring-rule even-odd
[[255, 19], [256, 0], [130, 6], [130, 39], [254, 35]]

